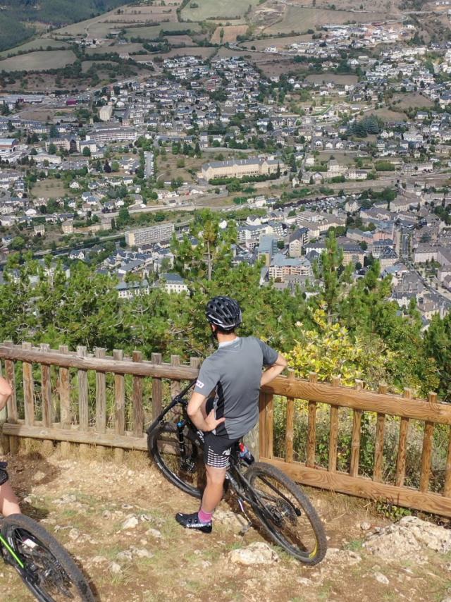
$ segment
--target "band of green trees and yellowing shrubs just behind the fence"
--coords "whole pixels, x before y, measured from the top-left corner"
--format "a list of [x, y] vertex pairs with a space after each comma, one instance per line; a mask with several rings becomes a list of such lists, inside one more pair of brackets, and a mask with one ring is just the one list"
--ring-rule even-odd
[[0, 285], [0, 337], [90, 350], [139, 349], [145, 357], [161, 352], [167, 360], [172, 354], [205, 357], [214, 343], [204, 307], [210, 297], [228, 294], [244, 310], [240, 335], [259, 336], [286, 353], [299, 376], [311, 370], [323, 380], [342, 374], [372, 388], [385, 381], [392, 391], [409, 386], [418, 395], [435, 390], [451, 400], [451, 316], [433, 317], [422, 333], [415, 302], [402, 312], [390, 301], [390, 277], [380, 277], [377, 261], [353, 280], [333, 233], [314, 264], [311, 294], [262, 286], [260, 264], [235, 261], [235, 221], [221, 226], [218, 216], [199, 211], [190, 232], [173, 238], [173, 271], [189, 288], [179, 295], [152, 287], [123, 300], [117, 279], [94, 266], [73, 263], [69, 274], [51, 256], [37, 262], [30, 254], [12, 254]]

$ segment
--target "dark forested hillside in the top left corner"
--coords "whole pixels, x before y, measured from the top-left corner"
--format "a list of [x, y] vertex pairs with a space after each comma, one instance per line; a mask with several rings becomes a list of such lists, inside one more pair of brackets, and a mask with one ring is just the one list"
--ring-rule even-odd
[[123, 0], [1, 0], [0, 50], [17, 46], [31, 37], [35, 29], [29, 23], [66, 25], [127, 4]]

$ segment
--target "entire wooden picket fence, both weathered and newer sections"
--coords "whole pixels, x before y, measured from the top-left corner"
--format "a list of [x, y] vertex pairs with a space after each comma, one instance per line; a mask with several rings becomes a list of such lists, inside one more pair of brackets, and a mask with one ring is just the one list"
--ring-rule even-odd
[[[147, 449], [145, 427], [159, 414], [166, 399], [180, 391], [181, 381], [197, 376], [200, 362], [199, 358], [192, 358], [190, 365], [182, 365], [178, 356], [172, 356], [168, 364], [161, 361], [158, 353], [152, 354], [152, 361], [146, 361], [140, 352], [124, 357], [121, 350], [115, 350], [112, 356], [106, 356], [104, 349], [88, 354], [84, 347], [71, 352], [66, 346], [53, 350], [49, 345], [36, 348], [30, 343], [13, 345], [9, 341], [0, 345], [0, 361], [3, 375], [13, 387], [3, 425], [5, 451], [14, 453], [18, 439], [25, 437], [60, 441], [61, 446], [78, 443], [115, 448], [119, 459], [124, 449]], [[278, 446], [274, 442], [276, 403], [279, 414], [280, 404], [283, 405], [284, 422], [283, 443], [280, 445], [279, 441]], [[304, 462], [295, 460], [299, 455], [295, 448], [295, 414], [299, 405], [307, 416]], [[320, 408], [323, 415], [325, 407], [327, 465], [321, 467], [317, 461], [317, 416]], [[338, 469], [342, 412], [352, 415], [346, 472]], [[373, 417], [375, 424], [372, 477], [359, 471], [365, 413]], [[384, 476], [384, 437], [389, 419], [390, 428], [395, 420], [399, 429], [395, 478], [391, 483]], [[414, 426], [411, 421], [415, 421], [417, 432], [421, 424], [416, 488], [405, 485], [409, 432]], [[447, 458], [442, 491], [434, 492], [430, 491], [431, 462], [434, 429], [438, 425], [446, 431]], [[311, 374], [309, 381], [295, 379], [292, 374], [288, 378], [280, 376], [261, 391], [258, 431], [260, 460], [276, 465], [302, 484], [451, 517], [451, 406], [438, 403], [435, 393], [430, 393], [428, 400], [421, 400], [414, 399], [409, 389], [402, 396], [387, 393], [383, 384], [378, 392], [373, 392], [365, 390], [362, 381], [350, 388], [341, 386], [338, 378], [332, 383], [318, 383], [316, 374]]]

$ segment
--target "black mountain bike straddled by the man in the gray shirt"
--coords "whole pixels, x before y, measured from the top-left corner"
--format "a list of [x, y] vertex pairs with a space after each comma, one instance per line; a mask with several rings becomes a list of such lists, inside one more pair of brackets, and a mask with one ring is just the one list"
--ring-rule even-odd
[[[175, 395], [147, 429], [147, 448], [164, 476], [185, 493], [202, 498], [205, 487], [204, 434], [187, 416], [190, 383]], [[225, 489], [232, 489], [251, 526], [245, 504], [273, 541], [306, 565], [326, 555], [323, 524], [301, 487], [276, 467], [264, 462], [247, 465], [240, 443], [230, 454]]]

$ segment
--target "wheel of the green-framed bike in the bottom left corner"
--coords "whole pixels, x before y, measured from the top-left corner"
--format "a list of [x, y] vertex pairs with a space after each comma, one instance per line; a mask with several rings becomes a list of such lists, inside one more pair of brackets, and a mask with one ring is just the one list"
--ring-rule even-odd
[[1, 534], [20, 559], [20, 566], [4, 548], [13, 565], [39, 602], [94, 602], [95, 598], [70, 554], [35, 520], [11, 515], [1, 521]]

